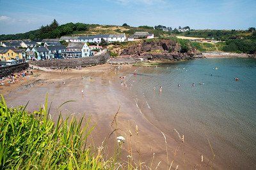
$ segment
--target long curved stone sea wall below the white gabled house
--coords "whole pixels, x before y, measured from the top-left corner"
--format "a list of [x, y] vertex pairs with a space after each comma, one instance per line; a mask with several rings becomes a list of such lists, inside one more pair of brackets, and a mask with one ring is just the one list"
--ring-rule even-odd
[[39, 67], [88, 67], [98, 64], [104, 64], [109, 59], [109, 52], [102, 53], [93, 57], [84, 57], [76, 59], [56, 59], [56, 60], [37, 60], [29, 61], [29, 64]]

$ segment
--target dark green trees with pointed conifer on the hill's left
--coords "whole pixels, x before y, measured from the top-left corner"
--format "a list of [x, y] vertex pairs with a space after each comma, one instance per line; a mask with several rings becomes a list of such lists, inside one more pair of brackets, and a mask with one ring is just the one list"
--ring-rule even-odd
[[20, 34], [2, 34], [0, 35], [0, 41], [11, 40], [11, 39], [45, 39], [45, 38], [60, 38], [67, 34], [73, 34], [79, 31], [88, 30], [89, 24], [83, 23], [67, 23], [59, 25], [54, 19], [50, 25], [41, 26], [40, 29], [35, 31], [29, 31]]

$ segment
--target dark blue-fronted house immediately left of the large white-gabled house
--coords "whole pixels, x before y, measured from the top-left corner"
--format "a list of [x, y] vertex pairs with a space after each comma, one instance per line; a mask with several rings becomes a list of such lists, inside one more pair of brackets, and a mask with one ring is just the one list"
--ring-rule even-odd
[[61, 59], [63, 58], [63, 53], [66, 52], [65, 45], [52, 45], [46, 46], [46, 48], [49, 50], [49, 59]]

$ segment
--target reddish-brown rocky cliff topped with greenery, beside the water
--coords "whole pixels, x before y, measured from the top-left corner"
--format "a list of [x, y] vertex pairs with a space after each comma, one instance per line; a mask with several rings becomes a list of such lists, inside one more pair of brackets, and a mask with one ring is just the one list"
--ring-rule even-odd
[[180, 53], [180, 45], [170, 39], [161, 39], [156, 41], [143, 41], [138, 45], [132, 45], [125, 48], [120, 53], [120, 57], [145, 57], [148, 59], [193, 59], [200, 57], [196, 50], [189, 49], [186, 53]]

